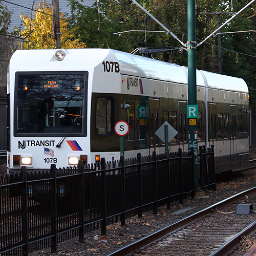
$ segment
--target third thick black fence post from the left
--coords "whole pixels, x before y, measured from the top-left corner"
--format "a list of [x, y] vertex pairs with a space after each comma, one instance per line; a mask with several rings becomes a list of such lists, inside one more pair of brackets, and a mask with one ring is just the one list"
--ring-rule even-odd
[[83, 175], [83, 163], [82, 160], [78, 162], [78, 203], [79, 203], [79, 242], [84, 242], [84, 175]]

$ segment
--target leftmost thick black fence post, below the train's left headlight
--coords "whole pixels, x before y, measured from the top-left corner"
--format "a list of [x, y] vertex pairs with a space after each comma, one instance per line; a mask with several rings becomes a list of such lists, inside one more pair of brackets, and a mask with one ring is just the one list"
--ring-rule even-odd
[[27, 167], [23, 166], [22, 172], [22, 255], [28, 256], [28, 174]]

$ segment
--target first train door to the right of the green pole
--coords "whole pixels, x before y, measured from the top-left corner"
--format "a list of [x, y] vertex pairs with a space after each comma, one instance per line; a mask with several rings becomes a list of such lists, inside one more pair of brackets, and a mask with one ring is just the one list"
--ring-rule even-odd
[[[217, 143], [216, 143], [216, 117], [217, 117], [217, 103], [208, 103], [208, 142], [210, 145], [214, 144], [215, 156], [217, 154]], [[217, 158], [215, 157], [215, 169], [217, 169]]]

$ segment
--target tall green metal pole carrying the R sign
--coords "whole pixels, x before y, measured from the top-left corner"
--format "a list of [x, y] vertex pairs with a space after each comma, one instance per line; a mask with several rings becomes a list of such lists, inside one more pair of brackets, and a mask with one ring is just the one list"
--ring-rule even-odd
[[[197, 104], [197, 77], [196, 77], [196, 12], [195, 0], [187, 1], [187, 67], [188, 67], [188, 105]], [[194, 118], [195, 119], [195, 118]], [[194, 120], [193, 120], [194, 121]], [[188, 147], [194, 148], [194, 184], [195, 189], [199, 185], [198, 180], [198, 147], [197, 137], [197, 119], [193, 122], [188, 119]]]

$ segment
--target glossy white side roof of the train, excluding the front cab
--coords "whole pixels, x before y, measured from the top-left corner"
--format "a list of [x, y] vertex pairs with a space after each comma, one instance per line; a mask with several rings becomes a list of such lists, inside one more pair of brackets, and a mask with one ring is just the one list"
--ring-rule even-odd
[[[123, 74], [187, 84], [187, 67], [113, 50]], [[242, 78], [197, 70], [197, 86], [248, 93]]]

